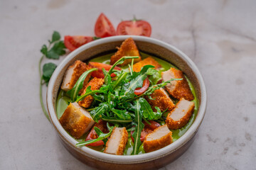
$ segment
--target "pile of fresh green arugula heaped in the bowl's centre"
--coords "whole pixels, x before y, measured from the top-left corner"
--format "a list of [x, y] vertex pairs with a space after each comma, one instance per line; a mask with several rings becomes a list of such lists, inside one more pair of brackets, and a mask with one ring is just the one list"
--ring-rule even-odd
[[[143, 85], [143, 81], [146, 77], [150, 77], [154, 75], [151, 65], [146, 65], [142, 67], [140, 72], [133, 72], [133, 62], [130, 65], [129, 71], [125, 70], [115, 70], [118, 64], [122, 64], [126, 59], [134, 59], [138, 58], [137, 56], [124, 56], [116, 63], [114, 63], [111, 69], [107, 72], [105, 69], [103, 73], [105, 74], [105, 84], [99, 89], [92, 91], [90, 86], [86, 89], [85, 94], [82, 96], [78, 96], [78, 91], [82, 88], [83, 80], [85, 79], [85, 74], [92, 71], [88, 70], [80, 77], [80, 81], [78, 80], [73, 89], [71, 89], [68, 94], [71, 97], [71, 100], [74, 102], [82, 101], [86, 96], [91, 95], [95, 98], [94, 103], [92, 103], [91, 108], [87, 109], [90, 111], [90, 115], [93, 120], [98, 122], [100, 119], [105, 120], [109, 123], [114, 124], [114, 126], [124, 126], [127, 128], [131, 128], [134, 130], [132, 137], [134, 138], [134, 149], [132, 154], [139, 153], [139, 147], [141, 146], [141, 132], [144, 128], [144, 123], [142, 120], [158, 120], [161, 118], [161, 111], [158, 107], [156, 107], [156, 112], [154, 112], [149, 105], [149, 103], [142, 96], [149, 96], [156, 90], [160, 89], [166, 84], [171, 83], [173, 80], [181, 80], [181, 79], [171, 79], [169, 81], [164, 81], [161, 84], [151, 84], [149, 88], [141, 95], [137, 96], [134, 94], [134, 90], [137, 88], [141, 88]], [[110, 77], [110, 74], [116, 74], [117, 76], [113, 79]], [[75, 92], [76, 91], [76, 92]], [[95, 140], [89, 141], [97, 142], [98, 140], [106, 139], [106, 136], [110, 136], [111, 130], [107, 134], [103, 134], [95, 129], [97, 133], [99, 133], [99, 137]], [[77, 146], [87, 145], [88, 141], [80, 142]]]

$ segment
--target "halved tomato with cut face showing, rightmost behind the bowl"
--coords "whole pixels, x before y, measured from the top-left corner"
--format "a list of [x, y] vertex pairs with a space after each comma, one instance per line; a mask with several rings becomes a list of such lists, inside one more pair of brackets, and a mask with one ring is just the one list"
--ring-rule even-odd
[[122, 21], [117, 26], [117, 35], [143, 35], [150, 37], [151, 26], [143, 20]]

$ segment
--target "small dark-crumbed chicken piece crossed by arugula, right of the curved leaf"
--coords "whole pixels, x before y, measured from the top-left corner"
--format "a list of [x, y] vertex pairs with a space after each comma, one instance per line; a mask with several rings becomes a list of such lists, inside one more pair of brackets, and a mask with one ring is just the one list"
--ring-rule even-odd
[[[86, 86], [84, 91], [82, 91], [82, 94], [85, 94], [86, 89], [88, 86], [91, 86], [91, 90], [98, 90], [100, 87], [104, 84], [104, 79], [99, 79], [97, 77], [93, 78]], [[79, 101], [79, 105], [84, 107], [84, 108], [89, 108], [93, 102], [94, 98], [92, 96], [87, 96], [85, 97], [82, 101]]]

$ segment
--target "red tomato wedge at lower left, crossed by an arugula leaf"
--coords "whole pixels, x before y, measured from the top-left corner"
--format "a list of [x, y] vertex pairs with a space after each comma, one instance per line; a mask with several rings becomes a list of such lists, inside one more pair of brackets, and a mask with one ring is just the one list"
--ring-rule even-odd
[[[108, 130], [107, 130], [107, 123], [105, 121], [103, 121], [103, 120], [99, 120], [99, 122], [95, 123], [95, 125], [92, 128], [92, 130], [87, 135], [85, 141], [97, 139], [98, 135], [95, 132], [95, 129], [94, 129], [95, 127], [99, 128], [104, 133], [108, 132]], [[104, 142], [102, 140], [97, 141], [97, 142], [93, 142], [91, 144], [88, 144], [87, 146], [97, 147], [97, 146], [100, 146], [100, 145], [104, 145]]]

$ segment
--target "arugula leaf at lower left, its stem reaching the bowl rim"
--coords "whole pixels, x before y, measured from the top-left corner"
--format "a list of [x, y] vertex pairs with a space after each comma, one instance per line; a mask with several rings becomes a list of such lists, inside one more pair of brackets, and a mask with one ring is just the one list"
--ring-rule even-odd
[[107, 123], [107, 129], [110, 130], [110, 132], [103, 133], [99, 128], [95, 127], [95, 132], [97, 133], [97, 135], [99, 137], [95, 140], [87, 140], [85, 142], [77, 143], [76, 146], [78, 147], [78, 146], [88, 145], [88, 144], [91, 144], [91, 143], [94, 143], [94, 142], [97, 142], [97, 141], [100, 141], [100, 140], [103, 140], [103, 142], [105, 143], [106, 140], [107, 140], [107, 137], [110, 137], [110, 135], [112, 134], [114, 126], [110, 126], [109, 123]]

